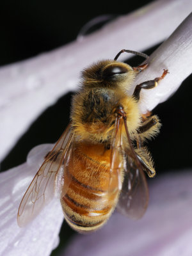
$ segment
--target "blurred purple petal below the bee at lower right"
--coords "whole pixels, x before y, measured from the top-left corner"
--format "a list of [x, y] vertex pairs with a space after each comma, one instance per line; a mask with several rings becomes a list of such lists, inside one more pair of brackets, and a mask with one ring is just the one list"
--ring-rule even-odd
[[150, 204], [141, 220], [113, 214], [99, 231], [77, 234], [70, 256], [191, 256], [192, 170], [162, 175], [150, 182]]

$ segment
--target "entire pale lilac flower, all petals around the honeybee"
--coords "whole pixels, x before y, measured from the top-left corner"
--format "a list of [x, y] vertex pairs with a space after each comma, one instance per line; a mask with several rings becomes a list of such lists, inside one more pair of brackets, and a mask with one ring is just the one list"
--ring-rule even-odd
[[[161, 6], [161, 2], [163, 2], [163, 6]], [[126, 17], [116, 20], [116, 23], [113, 22], [109, 24], [100, 32], [103, 33], [103, 35], [107, 35], [106, 37], [95, 33], [85, 38], [81, 43], [72, 43], [63, 49], [37, 57], [36, 59], [2, 68], [0, 70], [0, 80], [2, 80], [6, 86], [4, 86], [4, 89], [2, 89], [3, 86], [1, 88], [1, 90], [3, 90], [1, 96], [4, 95], [1, 100], [3, 108], [1, 108], [0, 112], [1, 129], [3, 128], [1, 135], [1, 157], [5, 156], [15, 140], [17, 140], [20, 134], [24, 132], [24, 129], [28, 127], [29, 123], [47, 106], [47, 104], [54, 102], [61, 93], [67, 92], [67, 90], [71, 90], [72, 88], [76, 89], [77, 74], [79, 74], [80, 66], [83, 68], [89, 64], [87, 61], [90, 61], [90, 56], [92, 56], [91, 60], [95, 60], [96, 58], [110, 58], [111, 56], [113, 57], [119, 49], [125, 48], [126, 45], [129, 45], [130, 49], [134, 48], [139, 51], [151, 46], [152, 42], [156, 44], [162, 40], [164, 36], [167, 36], [170, 32], [168, 26], [160, 23], [168, 22], [172, 19], [172, 15], [175, 15], [175, 19], [177, 16], [178, 21], [180, 19], [178, 17], [181, 16], [176, 15], [176, 13], [185, 13], [186, 16], [189, 12], [190, 4], [189, 1], [185, 0], [186, 8], [184, 8], [184, 1], [182, 3], [180, 3], [180, 1], [168, 2], [169, 3], [166, 3], [166, 1], [157, 1], [157, 3], [153, 3], [151, 6], [144, 9], [145, 14], [143, 15], [141, 10], [138, 13], [131, 14], [127, 18], [129, 19], [129, 25], [127, 26], [125, 26], [127, 23]], [[177, 4], [175, 5], [175, 3]], [[183, 11], [181, 11], [179, 6], [183, 8]], [[169, 8], [168, 13], [167, 8]], [[171, 11], [173, 12], [172, 15], [170, 15]], [[164, 20], [160, 22], [161, 19], [158, 17], [164, 17]], [[143, 22], [145, 26], [143, 26]], [[141, 36], [143, 29], [148, 28], [148, 26], [152, 24], [152, 30], [154, 29], [153, 26], [155, 23], [156, 26], [161, 27], [161, 31], [158, 30], [158, 33], [154, 33], [153, 36], [148, 33], [147, 37], [144, 36], [146, 35], [145, 32], [143, 38], [141, 37], [142, 40], [141, 38], [134, 39], [134, 31], [136, 31], [136, 29], [138, 29], [136, 35]], [[170, 24], [172, 24], [172, 22], [170, 22]], [[150, 92], [145, 91], [141, 94], [140, 107], [143, 113], [153, 109], [159, 102], [163, 102], [170, 97], [170, 95], [177, 90], [180, 83], [189, 76], [192, 64], [191, 28], [191, 16], [189, 16], [175, 33], [150, 56], [148, 60], [150, 66], [147, 70], [142, 72], [135, 81], [135, 83], [140, 83], [140, 81], [153, 79], [162, 73], [163, 68], [168, 68], [170, 72], [157, 88]], [[128, 39], [127, 42], [124, 40], [127, 37], [125, 29], [129, 30], [129, 44]], [[132, 35], [132, 41], [130, 35]], [[120, 36], [122, 36], [121, 39]], [[108, 46], [109, 38], [111, 42], [114, 42], [111, 47]], [[154, 38], [154, 40], [152, 40], [152, 38]], [[107, 51], [100, 52], [100, 44], [103, 45], [104, 51]], [[79, 45], [79, 47], [77, 47], [77, 45]], [[70, 57], [70, 52], [74, 52], [74, 49], [77, 51], [73, 53], [76, 59]], [[69, 52], [68, 55], [65, 54], [65, 52]], [[65, 56], [65, 58], [61, 60], [61, 56], [62, 58]], [[53, 59], [54, 61], [52, 61]], [[79, 60], [81, 65], [79, 64], [79, 66], [76, 65], [75, 68], [71, 68], [74, 67], [74, 61], [76, 61], [76, 64], [78, 63], [77, 60]], [[54, 65], [52, 63], [54, 63]], [[67, 72], [67, 67], [70, 72]], [[20, 70], [22, 70], [22, 72], [20, 72]], [[65, 70], [66, 77], [63, 75], [63, 70]], [[8, 76], [8, 74], [12, 75]], [[23, 86], [23, 81], [26, 82], [25, 87]], [[63, 88], [63, 81], [66, 82], [65, 88]], [[15, 91], [11, 90], [13, 83]], [[57, 90], [55, 90], [52, 84], [58, 85]], [[11, 94], [11, 92], [13, 94]], [[46, 93], [46, 95], [44, 93]], [[36, 95], [45, 101], [35, 101]], [[41, 95], [44, 95], [44, 97], [41, 97]], [[34, 104], [34, 102], [36, 104]], [[23, 104], [25, 103], [26, 108], [23, 108]], [[32, 105], [33, 111], [31, 112], [29, 109]], [[19, 115], [14, 115], [15, 113], [19, 113]], [[13, 126], [14, 129], [10, 132], [9, 127]], [[63, 213], [58, 199], [52, 200], [51, 204], [47, 205], [47, 207], [40, 212], [38, 217], [26, 227], [19, 228], [17, 225], [17, 210], [22, 195], [28, 188], [29, 183], [42, 163], [45, 153], [49, 150], [49, 145], [40, 145], [29, 154], [26, 163], [12, 170], [8, 170], [7, 172], [0, 173], [0, 255], [46, 256], [49, 255], [52, 249], [58, 244], [58, 233], [63, 221]], [[157, 180], [156, 183], [152, 185], [150, 191], [152, 198], [150, 207], [143, 220], [132, 222], [125, 220], [124, 217], [118, 214], [114, 214], [108, 224], [106, 224], [102, 230], [99, 230], [99, 232], [87, 238], [84, 238], [84, 236], [81, 237], [80, 235], [80, 238], [77, 236], [72, 242], [76, 248], [70, 246], [67, 249], [68, 255], [94, 255], [94, 252], [92, 252], [89, 246], [95, 244], [95, 241], [101, 245], [100, 251], [96, 251], [98, 254], [100, 253], [99, 255], [104, 255], [104, 253], [110, 255], [127, 255], [127, 252], [131, 253], [131, 255], [158, 255], [158, 253], [161, 253], [159, 255], [166, 255], [166, 252], [169, 252], [167, 255], [177, 255], [174, 251], [175, 248], [169, 246], [171, 241], [178, 241], [177, 245], [180, 244], [179, 247], [177, 246], [177, 252], [180, 252], [178, 255], [191, 255], [190, 250], [189, 254], [182, 254], [184, 249], [188, 250], [187, 247], [184, 248], [183, 244], [186, 243], [185, 241], [189, 243], [187, 239], [191, 237], [191, 229], [189, 226], [191, 212], [186, 211], [184, 214], [180, 212], [180, 215], [178, 215], [180, 209], [186, 209], [191, 197], [186, 196], [184, 197], [185, 200], [178, 201], [175, 199], [175, 195], [177, 195], [177, 197], [180, 196], [180, 198], [189, 195], [189, 179], [191, 179], [189, 173], [180, 177], [172, 177], [172, 175], [170, 177], [161, 177], [161, 179]], [[172, 186], [173, 190], [170, 186]], [[159, 190], [157, 190], [158, 188]], [[176, 190], [180, 188], [180, 190], [178, 190], [179, 194], [174, 193], [172, 197], [170, 191], [175, 191], [175, 188]], [[161, 196], [159, 197], [158, 191], [161, 191]], [[162, 191], [164, 191], [164, 193], [162, 193]], [[181, 215], [184, 216], [182, 218], [184, 225], [179, 225], [182, 222], [181, 218], [179, 218]], [[152, 221], [153, 224], [151, 225], [153, 225], [153, 227], [150, 226], [150, 221]], [[113, 223], [116, 223], [116, 227], [113, 226]], [[166, 230], [163, 231], [161, 223], [164, 223], [164, 227], [167, 228]], [[168, 230], [171, 230], [171, 232], [169, 233]], [[124, 237], [122, 237], [121, 241], [116, 245], [116, 248], [119, 250], [118, 253], [116, 253], [115, 239], [116, 237], [120, 237], [121, 234]], [[152, 236], [152, 234], [154, 234], [154, 236]], [[179, 238], [179, 234], [183, 234], [183, 239]], [[137, 240], [134, 239], [136, 236]], [[175, 238], [173, 236], [175, 236]], [[109, 252], [107, 251], [106, 244], [111, 243], [111, 241], [110, 239], [107, 241], [106, 238], [102, 237], [111, 237], [113, 246], [111, 246]], [[185, 237], [187, 237], [186, 240]], [[106, 244], [104, 241], [106, 241]], [[129, 247], [127, 252], [125, 252], [123, 248], [125, 243], [131, 243], [131, 247]], [[167, 246], [163, 247], [163, 245]], [[79, 246], [84, 246], [84, 248], [80, 250]], [[158, 248], [159, 250], [157, 250]], [[152, 252], [154, 252], [154, 254]]]

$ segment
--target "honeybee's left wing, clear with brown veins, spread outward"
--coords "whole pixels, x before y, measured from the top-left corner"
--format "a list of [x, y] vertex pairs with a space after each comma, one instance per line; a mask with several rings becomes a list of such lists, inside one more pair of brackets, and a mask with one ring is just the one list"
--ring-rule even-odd
[[[65, 156], [70, 152], [73, 137], [72, 127], [69, 124], [36, 173], [20, 202], [17, 214], [17, 223], [20, 227], [33, 220], [52, 200], [56, 187], [61, 186]], [[57, 175], [59, 175], [58, 179], [56, 179]]]

